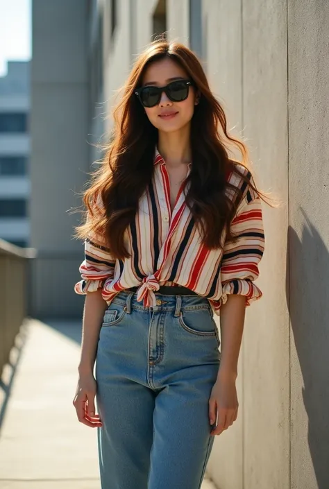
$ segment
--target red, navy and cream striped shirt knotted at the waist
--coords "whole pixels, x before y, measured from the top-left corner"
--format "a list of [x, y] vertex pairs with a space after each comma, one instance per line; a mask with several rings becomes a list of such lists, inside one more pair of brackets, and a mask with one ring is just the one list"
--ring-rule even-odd
[[[239, 164], [239, 169], [251, 178], [244, 166]], [[140, 198], [135, 220], [124, 234], [130, 258], [114, 259], [103, 237], [90, 234], [85, 239], [85, 259], [79, 268], [82, 280], [75, 284], [74, 291], [86, 294], [102, 289], [102, 297], [109, 305], [120, 291], [138, 286], [137, 300], [149, 307], [155, 305], [155, 291], [160, 285], [180, 285], [207, 298], [218, 316], [228, 294], [244, 295], [246, 306], [260, 299], [262, 291], [254, 280], [264, 252], [261, 200], [235, 172], [226, 178], [242, 189], [242, 200], [231, 222], [238, 239], [235, 243], [224, 241], [223, 249], [209, 250], [201, 242], [185, 203], [185, 180], [171, 212], [169, 174], [156, 150], [153, 178]], [[232, 191], [226, 192], [232, 198]]]

